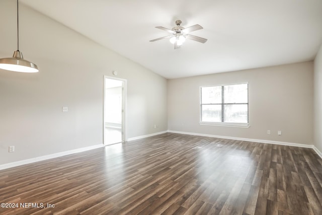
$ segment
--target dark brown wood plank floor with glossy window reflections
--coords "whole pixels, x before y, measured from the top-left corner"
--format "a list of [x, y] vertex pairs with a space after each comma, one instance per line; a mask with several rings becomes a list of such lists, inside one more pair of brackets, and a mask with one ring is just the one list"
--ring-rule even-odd
[[321, 164], [312, 149], [165, 133], [2, 170], [0, 214], [322, 214]]

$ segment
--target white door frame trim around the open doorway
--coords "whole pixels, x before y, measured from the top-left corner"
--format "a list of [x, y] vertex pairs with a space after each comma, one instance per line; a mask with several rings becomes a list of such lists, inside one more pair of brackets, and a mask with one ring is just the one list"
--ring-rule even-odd
[[103, 145], [106, 145], [106, 133], [105, 133], [105, 88], [106, 88], [106, 79], [113, 79], [117, 81], [123, 82], [123, 90], [122, 90], [122, 142], [127, 141], [127, 117], [126, 117], [126, 107], [127, 107], [127, 80], [126, 79], [120, 79], [116, 77], [110, 77], [110, 76], [104, 76], [104, 87], [103, 87]]

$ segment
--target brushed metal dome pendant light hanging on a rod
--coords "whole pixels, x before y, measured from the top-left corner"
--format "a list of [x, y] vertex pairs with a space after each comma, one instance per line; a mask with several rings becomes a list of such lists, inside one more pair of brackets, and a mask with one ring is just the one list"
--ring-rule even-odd
[[21, 73], [37, 73], [38, 67], [36, 64], [25, 60], [22, 56], [22, 53], [19, 51], [19, 7], [17, 0], [17, 51], [14, 52], [13, 57], [1, 58], [0, 59], [0, 68], [11, 70], [11, 71], [20, 71]]

